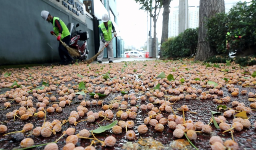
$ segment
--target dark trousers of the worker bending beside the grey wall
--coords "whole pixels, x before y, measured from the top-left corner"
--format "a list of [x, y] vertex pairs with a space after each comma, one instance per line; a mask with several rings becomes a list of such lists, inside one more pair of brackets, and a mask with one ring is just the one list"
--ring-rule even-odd
[[[67, 45], [69, 45], [70, 36], [66, 36], [65, 38], [62, 39], [62, 41], [64, 43], [66, 43]], [[60, 45], [59, 45], [59, 55], [60, 55], [61, 62], [70, 61], [70, 60], [73, 59], [70, 56], [70, 54], [68, 53], [68, 49], [66, 49], [66, 47], [64, 47], [61, 42], [60, 42]]]

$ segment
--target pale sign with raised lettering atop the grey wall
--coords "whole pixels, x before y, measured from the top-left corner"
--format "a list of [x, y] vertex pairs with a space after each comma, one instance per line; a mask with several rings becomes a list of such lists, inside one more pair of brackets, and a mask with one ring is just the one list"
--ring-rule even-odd
[[79, 18], [82, 22], [85, 22], [85, 7], [79, 0], [49, 0], [54, 4], [60, 6], [66, 12], [72, 14], [76, 18]]

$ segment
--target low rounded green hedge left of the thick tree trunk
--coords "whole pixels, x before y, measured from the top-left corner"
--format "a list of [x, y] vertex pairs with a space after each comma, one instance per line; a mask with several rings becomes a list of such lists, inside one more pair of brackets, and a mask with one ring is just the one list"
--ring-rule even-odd
[[189, 57], [196, 55], [197, 43], [198, 28], [190, 28], [179, 34], [179, 36], [169, 38], [168, 41], [162, 43], [161, 51], [165, 57]]

